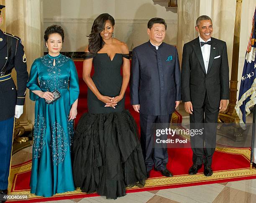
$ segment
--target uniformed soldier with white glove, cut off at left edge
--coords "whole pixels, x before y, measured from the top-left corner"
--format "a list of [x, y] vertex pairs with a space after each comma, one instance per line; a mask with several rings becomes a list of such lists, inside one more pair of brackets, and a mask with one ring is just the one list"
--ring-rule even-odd
[[[0, 5], [0, 23], [4, 7]], [[13, 68], [17, 72], [17, 90], [11, 77]], [[7, 194], [13, 128], [15, 118], [23, 113], [27, 81], [26, 55], [20, 38], [0, 30], [0, 194]]]

